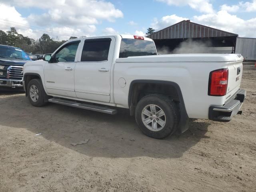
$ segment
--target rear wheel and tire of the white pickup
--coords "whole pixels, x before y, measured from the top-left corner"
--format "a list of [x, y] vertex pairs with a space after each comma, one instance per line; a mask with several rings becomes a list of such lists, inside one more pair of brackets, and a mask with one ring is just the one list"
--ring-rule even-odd
[[144, 96], [136, 106], [135, 119], [145, 135], [156, 139], [173, 134], [179, 123], [176, 104], [161, 94]]

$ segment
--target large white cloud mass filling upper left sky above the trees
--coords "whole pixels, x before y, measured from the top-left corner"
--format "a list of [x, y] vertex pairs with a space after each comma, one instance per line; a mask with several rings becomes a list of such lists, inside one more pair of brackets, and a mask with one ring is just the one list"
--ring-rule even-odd
[[[91, 36], [96, 25], [103, 20], [114, 22], [122, 18], [123, 13], [110, 2], [104, 0], [2, 0], [0, 3], [0, 30], [9, 30], [10, 26], [33, 38], [42, 33], [65, 39], [70, 36]], [[21, 16], [15, 7], [45, 9], [43, 14]], [[2, 21], [4, 20], [4, 22]], [[5, 21], [7, 20], [7, 21]], [[35, 26], [35, 27], [34, 27]]]

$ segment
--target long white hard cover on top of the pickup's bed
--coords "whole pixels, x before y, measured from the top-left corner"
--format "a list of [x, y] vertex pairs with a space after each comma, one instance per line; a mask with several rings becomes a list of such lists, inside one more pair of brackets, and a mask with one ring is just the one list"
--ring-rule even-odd
[[240, 54], [168, 54], [118, 58], [116, 62], [237, 62]]

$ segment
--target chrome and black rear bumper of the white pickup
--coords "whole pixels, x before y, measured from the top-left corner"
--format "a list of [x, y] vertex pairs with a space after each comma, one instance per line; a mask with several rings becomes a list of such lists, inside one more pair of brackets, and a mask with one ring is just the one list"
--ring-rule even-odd
[[223, 106], [210, 106], [209, 119], [213, 121], [228, 122], [240, 111], [246, 97], [246, 90], [240, 89], [234, 99]]

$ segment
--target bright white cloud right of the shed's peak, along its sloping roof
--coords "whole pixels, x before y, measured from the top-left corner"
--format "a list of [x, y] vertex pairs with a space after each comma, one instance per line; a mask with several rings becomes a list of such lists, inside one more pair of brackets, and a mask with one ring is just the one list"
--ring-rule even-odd
[[194, 22], [232, 32], [241, 37], [256, 37], [256, 18], [243, 20], [236, 15], [228, 13], [226, 10], [220, 10], [213, 14], [194, 16]]

